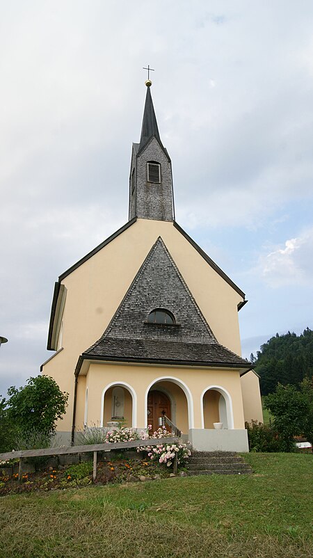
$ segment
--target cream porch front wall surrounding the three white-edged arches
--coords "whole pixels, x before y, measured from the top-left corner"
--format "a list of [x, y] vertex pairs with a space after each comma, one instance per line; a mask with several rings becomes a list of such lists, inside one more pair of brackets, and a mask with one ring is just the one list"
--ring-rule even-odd
[[[86, 386], [88, 386], [88, 424], [99, 423], [102, 416], [103, 392], [106, 386], [111, 388], [111, 384], [116, 383], [123, 387], [128, 385], [129, 391], [136, 394], [135, 407], [137, 407], [137, 410], [134, 417], [135, 424], [132, 426], [144, 428], [147, 423], [145, 398], [152, 385], [157, 389], [156, 381], [166, 382], [168, 391], [170, 383], [175, 383], [175, 381], [182, 388], [187, 401], [188, 399], [191, 401], [191, 404], [188, 404], [189, 428], [202, 428], [202, 393], [207, 388], [214, 386], [223, 388], [230, 395], [234, 429], [244, 428], [239, 372], [225, 369], [188, 369], [110, 363], [90, 364], [86, 381]], [[174, 386], [172, 394], [173, 397], [175, 397], [174, 394], [177, 395]], [[179, 400], [177, 400], [177, 404], [179, 404]], [[177, 424], [177, 426], [179, 425]], [[76, 427], [80, 428], [81, 424], [77, 422]], [[183, 430], [186, 432], [186, 429]]]

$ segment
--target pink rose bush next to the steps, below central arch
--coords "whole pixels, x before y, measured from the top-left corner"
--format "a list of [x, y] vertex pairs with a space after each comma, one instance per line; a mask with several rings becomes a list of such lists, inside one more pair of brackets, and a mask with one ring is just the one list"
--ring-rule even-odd
[[[151, 425], [148, 427], [151, 430]], [[172, 433], [166, 430], [166, 427], [158, 428], [150, 435], [150, 438], [156, 440], [157, 438], [172, 438]], [[138, 447], [137, 452], [147, 452], [147, 456], [152, 461], [159, 461], [159, 463], [166, 464], [167, 467], [172, 467], [177, 454], [178, 465], [184, 465], [186, 459], [191, 455], [190, 450], [184, 443], [177, 444], [159, 444], [156, 446], [143, 446]]]

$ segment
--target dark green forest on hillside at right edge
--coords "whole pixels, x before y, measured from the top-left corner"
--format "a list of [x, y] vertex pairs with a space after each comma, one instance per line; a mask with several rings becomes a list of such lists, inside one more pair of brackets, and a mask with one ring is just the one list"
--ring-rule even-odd
[[303, 378], [313, 376], [313, 331], [285, 333], [271, 337], [250, 361], [260, 376], [262, 395], [273, 393], [278, 383], [299, 385]]

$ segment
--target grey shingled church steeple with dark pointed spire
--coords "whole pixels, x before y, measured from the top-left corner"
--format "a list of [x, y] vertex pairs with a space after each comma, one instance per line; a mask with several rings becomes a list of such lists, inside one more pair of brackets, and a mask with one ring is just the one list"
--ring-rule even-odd
[[172, 167], [163, 147], [147, 79], [140, 143], [133, 143], [129, 175], [129, 219], [173, 221]]

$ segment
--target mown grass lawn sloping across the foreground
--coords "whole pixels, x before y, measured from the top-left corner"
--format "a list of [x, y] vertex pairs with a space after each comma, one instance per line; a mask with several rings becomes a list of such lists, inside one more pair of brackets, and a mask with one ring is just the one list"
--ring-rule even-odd
[[254, 475], [2, 497], [0, 557], [312, 556], [312, 455], [248, 454], [246, 461]]

